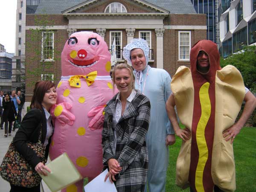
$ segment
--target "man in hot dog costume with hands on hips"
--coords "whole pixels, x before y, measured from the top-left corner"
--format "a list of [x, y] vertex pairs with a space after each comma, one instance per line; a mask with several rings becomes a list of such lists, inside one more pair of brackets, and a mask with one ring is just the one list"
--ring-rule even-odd
[[[166, 109], [175, 133], [183, 140], [176, 164], [176, 184], [191, 192], [234, 192], [236, 171], [233, 140], [256, 107], [240, 72], [220, 67], [215, 43], [198, 41], [190, 65], [178, 68]], [[236, 117], [245, 101], [238, 122]], [[177, 114], [185, 129], [180, 129]]]

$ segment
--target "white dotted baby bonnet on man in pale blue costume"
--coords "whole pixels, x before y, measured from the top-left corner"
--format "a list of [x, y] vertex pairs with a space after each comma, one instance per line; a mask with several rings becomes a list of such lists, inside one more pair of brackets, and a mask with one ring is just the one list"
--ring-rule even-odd
[[125, 60], [128, 61], [128, 64], [131, 64], [131, 50], [136, 48], [140, 48], [143, 50], [146, 58], [146, 63], [148, 64], [148, 55], [149, 55], [148, 43], [147, 41], [141, 38], [131, 40], [131, 43], [127, 44], [124, 47], [122, 54]]

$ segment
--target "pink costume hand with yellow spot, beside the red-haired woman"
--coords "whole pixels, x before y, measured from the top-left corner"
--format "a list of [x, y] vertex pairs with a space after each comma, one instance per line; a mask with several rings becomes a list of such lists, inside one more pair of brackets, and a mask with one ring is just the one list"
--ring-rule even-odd
[[51, 109], [51, 116], [58, 120], [61, 125], [73, 125], [75, 116], [69, 111], [72, 108], [70, 103], [64, 102], [54, 105]]

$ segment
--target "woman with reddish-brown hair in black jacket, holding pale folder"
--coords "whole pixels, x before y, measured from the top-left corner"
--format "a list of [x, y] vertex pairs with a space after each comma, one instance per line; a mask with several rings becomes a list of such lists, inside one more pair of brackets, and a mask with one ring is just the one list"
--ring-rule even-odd
[[[20, 128], [17, 131], [13, 143], [17, 151], [35, 169], [38, 174], [47, 175], [49, 168], [42, 163], [27, 143], [37, 143], [41, 134], [41, 142], [45, 146], [45, 158], [48, 157], [49, 144], [53, 134], [53, 125], [50, 116], [50, 109], [56, 104], [57, 93], [55, 84], [51, 81], [38, 81], [35, 84], [34, 95], [30, 108], [31, 110], [24, 116]], [[40, 192], [40, 184], [35, 187], [23, 187], [11, 185], [10, 192]]]

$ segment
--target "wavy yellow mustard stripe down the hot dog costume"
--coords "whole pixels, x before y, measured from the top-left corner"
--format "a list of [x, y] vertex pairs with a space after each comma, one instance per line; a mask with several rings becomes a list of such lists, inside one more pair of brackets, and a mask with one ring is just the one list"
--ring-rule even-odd
[[196, 129], [196, 142], [198, 145], [199, 159], [195, 171], [195, 188], [198, 192], [204, 192], [203, 174], [204, 167], [208, 159], [208, 148], [204, 137], [204, 130], [211, 115], [211, 102], [209, 98], [209, 82], [202, 85], [199, 90], [199, 98], [201, 103], [201, 117]]

